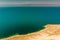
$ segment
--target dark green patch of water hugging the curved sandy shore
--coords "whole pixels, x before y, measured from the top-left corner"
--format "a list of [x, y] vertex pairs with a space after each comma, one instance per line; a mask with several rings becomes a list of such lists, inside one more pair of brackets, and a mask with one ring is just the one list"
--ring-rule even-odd
[[37, 24], [21, 24], [21, 25], [15, 25], [11, 26], [10, 28], [7, 28], [4, 30], [4, 32], [0, 33], [0, 38], [7, 38], [12, 35], [25, 35], [33, 32], [37, 32], [39, 30], [44, 29], [44, 27], [41, 27]]

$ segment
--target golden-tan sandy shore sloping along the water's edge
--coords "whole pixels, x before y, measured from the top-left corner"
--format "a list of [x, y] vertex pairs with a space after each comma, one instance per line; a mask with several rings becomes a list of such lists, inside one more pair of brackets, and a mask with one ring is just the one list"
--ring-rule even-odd
[[48, 24], [44, 30], [27, 35], [15, 35], [0, 40], [60, 40], [60, 25]]

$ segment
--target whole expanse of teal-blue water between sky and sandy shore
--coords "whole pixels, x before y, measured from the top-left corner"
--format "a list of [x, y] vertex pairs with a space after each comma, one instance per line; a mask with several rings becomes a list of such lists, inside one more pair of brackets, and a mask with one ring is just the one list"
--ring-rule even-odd
[[60, 7], [0, 7], [0, 38], [60, 24]]

